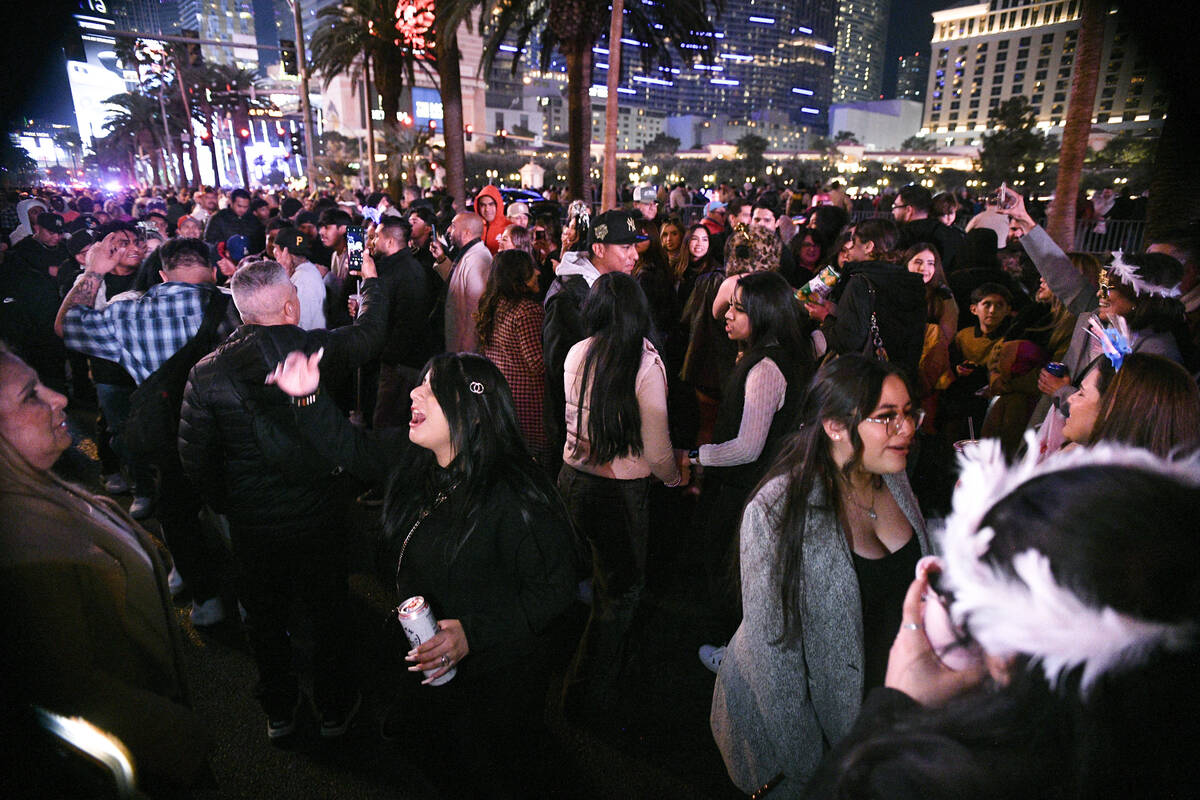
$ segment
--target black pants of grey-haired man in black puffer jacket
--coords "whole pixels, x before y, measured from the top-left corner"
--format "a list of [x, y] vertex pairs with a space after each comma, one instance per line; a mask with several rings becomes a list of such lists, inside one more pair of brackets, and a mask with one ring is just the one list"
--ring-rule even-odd
[[295, 706], [299, 682], [288, 620], [293, 602], [312, 624], [313, 702], [322, 712], [344, 710], [355, 686], [349, 656], [346, 541], [332, 522], [287, 537], [266, 537], [230, 521], [238, 596], [258, 667], [256, 697], [270, 717]]

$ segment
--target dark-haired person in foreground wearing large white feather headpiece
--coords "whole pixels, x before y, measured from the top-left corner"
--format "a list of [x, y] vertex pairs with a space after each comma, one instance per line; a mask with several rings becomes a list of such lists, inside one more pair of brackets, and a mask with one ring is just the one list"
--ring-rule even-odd
[[994, 440], [970, 453], [887, 688], [810, 796], [1108, 800], [1200, 783], [1200, 462], [1115, 444], [1038, 456], [1008, 467]]

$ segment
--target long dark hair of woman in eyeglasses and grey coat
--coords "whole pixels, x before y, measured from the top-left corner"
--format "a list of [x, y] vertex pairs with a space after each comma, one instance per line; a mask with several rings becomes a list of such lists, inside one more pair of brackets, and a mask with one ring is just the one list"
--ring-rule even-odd
[[[793, 644], [800, 637], [804, 525], [809, 495], [815, 486], [820, 486], [824, 491], [826, 505], [822, 507], [836, 511], [841, 506], [841, 482], [863, 462], [858, 425], [875, 410], [883, 392], [883, 381], [892, 375], [905, 383], [908, 397], [916, 402], [905, 373], [887, 361], [847, 354], [823, 365], [804, 397], [799, 429], [784, 444], [775, 463], [758, 485], [761, 489], [775, 477], [787, 477], [784, 503], [773, 512], [772, 519], [779, 539], [774, 579], [784, 612], [784, 627], [778, 639], [781, 644]], [[834, 463], [829, 437], [822, 427], [826, 421], [846, 426], [853, 447], [853, 456], [840, 469]]]

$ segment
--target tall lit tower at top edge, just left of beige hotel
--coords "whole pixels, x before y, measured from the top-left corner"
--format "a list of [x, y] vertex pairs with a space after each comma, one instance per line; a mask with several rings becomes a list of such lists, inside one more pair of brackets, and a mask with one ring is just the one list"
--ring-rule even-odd
[[890, 10], [890, 0], [838, 1], [833, 102], [880, 98]]

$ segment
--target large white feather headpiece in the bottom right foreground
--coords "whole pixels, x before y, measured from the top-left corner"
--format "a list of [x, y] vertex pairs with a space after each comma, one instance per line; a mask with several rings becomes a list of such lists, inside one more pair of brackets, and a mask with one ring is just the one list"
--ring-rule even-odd
[[[1032, 434], [1031, 434], [1032, 435]], [[1193, 625], [1139, 619], [1110, 607], [1098, 608], [1061, 585], [1045, 554], [1027, 549], [1013, 558], [1016, 578], [982, 560], [991, 528], [980, 529], [988, 512], [1026, 481], [1050, 473], [1091, 465], [1121, 465], [1200, 486], [1200, 459], [1168, 462], [1145, 450], [1102, 444], [1076, 447], [1037, 463], [1038, 450], [1006, 465], [998, 440], [980, 441], [959, 461], [961, 477], [954, 511], [941, 534], [944, 581], [954, 596], [950, 614], [994, 655], [1026, 654], [1040, 663], [1055, 685], [1063, 673], [1084, 664], [1081, 691], [1105, 672], [1136, 664], [1158, 648], [1187, 646]]]

